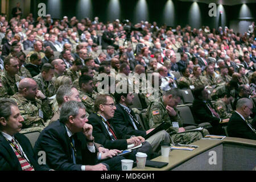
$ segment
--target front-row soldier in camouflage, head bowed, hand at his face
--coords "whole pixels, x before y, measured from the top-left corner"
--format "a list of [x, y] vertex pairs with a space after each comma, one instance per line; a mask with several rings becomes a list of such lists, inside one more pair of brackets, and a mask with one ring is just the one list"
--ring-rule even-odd
[[168, 90], [159, 100], [150, 103], [146, 117], [149, 120], [150, 128], [159, 126], [163, 121], [170, 123], [171, 127], [167, 131], [174, 143], [189, 144], [200, 140], [203, 135], [200, 131], [180, 133], [185, 131], [183, 127], [180, 127], [183, 122], [179, 112], [175, 109], [175, 106], [180, 102], [180, 97], [177, 89]]

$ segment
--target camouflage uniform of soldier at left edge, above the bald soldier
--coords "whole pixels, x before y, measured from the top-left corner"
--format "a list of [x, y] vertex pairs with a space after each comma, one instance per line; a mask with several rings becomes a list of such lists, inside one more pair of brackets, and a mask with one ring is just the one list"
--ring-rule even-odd
[[2, 73], [2, 87], [0, 88], [0, 98], [10, 97], [18, 92], [19, 81], [21, 80], [19, 75], [15, 75], [11, 78], [4, 70]]

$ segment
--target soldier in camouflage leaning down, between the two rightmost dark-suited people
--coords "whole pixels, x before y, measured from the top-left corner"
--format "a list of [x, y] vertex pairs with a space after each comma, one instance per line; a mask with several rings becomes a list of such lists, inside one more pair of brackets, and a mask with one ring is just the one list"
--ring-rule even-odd
[[[217, 111], [220, 118], [226, 119], [232, 116], [232, 109], [230, 108], [230, 102], [233, 100], [233, 97], [230, 95], [230, 92], [224, 92], [217, 102], [213, 104], [214, 109]], [[228, 107], [230, 105], [230, 107]]]

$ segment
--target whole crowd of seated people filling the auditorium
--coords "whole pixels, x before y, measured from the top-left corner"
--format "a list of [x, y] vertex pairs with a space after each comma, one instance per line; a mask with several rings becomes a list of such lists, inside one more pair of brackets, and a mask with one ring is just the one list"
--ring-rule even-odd
[[[124, 26], [0, 15], [0, 170], [121, 170], [137, 151], [159, 156], [162, 141], [256, 139], [255, 34], [142, 21], [127, 42]], [[177, 109], [181, 89], [191, 90], [199, 131], [188, 131]], [[141, 108], [132, 107], [135, 94]], [[163, 122], [166, 131], [145, 139]], [[36, 131], [32, 148], [23, 134]]]

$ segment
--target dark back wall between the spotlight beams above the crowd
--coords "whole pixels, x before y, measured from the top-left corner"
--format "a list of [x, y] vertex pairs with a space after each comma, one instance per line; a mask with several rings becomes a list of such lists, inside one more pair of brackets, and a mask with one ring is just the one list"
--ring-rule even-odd
[[[81, 7], [77, 7], [79, 4], [79, 0], [61, 0], [61, 6], [58, 7], [48, 7], [49, 1], [60, 1], [60, 0], [33, 0], [31, 1], [31, 13], [34, 16], [37, 16], [38, 12], [38, 3], [43, 2], [46, 3], [47, 6], [47, 14], [51, 14], [52, 18], [63, 18], [63, 16], [68, 16], [71, 18], [72, 16], [81, 16]], [[93, 19], [94, 16], [98, 16], [101, 22], [108, 22], [108, 5], [110, 0], [90, 0], [92, 5], [90, 9], [90, 14], [86, 14], [86, 16], [90, 19]], [[167, 0], [147, 0], [147, 10], [148, 10], [148, 22], [157, 22], [159, 26], [162, 26], [164, 22], [163, 10], [166, 5]], [[191, 9], [193, 2], [182, 2], [177, 0], [172, 0], [175, 6], [175, 17], [174, 23], [167, 24], [168, 26], [177, 26], [180, 24], [181, 26], [185, 26], [189, 24], [193, 27], [199, 28], [201, 26], [209, 26], [210, 28], [217, 28], [218, 26], [229, 26], [229, 21], [232, 19], [237, 19], [238, 14], [240, 12], [241, 5], [236, 6], [224, 6], [225, 13], [221, 15], [221, 19], [219, 14], [217, 17], [210, 17], [208, 15], [209, 7], [206, 3], [198, 3], [200, 9], [200, 18], [194, 18], [189, 14], [189, 10]], [[115, 17], [115, 19], [129, 19], [132, 23], [137, 23], [135, 20], [139, 18], [135, 16], [136, 14], [136, 6], [138, 0], [129, 0], [129, 1], [120, 1], [119, 0], [119, 16]], [[255, 10], [256, 3], [251, 3], [248, 5], [251, 14], [253, 17], [256, 17]], [[218, 6], [218, 5], [217, 5]], [[82, 7], [83, 8], [83, 7]], [[78, 10], [80, 9], [80, 11]], [[80, 12], [80, 13], [79, 13]], [[82, 17], [81, 17], [82, 18]]]

